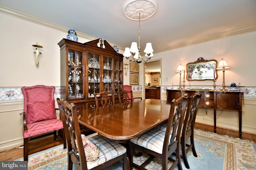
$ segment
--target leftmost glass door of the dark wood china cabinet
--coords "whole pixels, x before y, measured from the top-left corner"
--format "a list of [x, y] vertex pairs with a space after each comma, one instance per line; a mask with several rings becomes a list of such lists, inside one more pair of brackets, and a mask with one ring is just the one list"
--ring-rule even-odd
[[68, 99], [84, 98], [83, 52], [68, 49]]

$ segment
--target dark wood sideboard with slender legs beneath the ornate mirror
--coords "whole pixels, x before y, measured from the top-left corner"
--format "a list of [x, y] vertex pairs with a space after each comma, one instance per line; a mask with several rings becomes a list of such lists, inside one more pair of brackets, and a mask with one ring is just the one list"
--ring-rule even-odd
[[214, 109], [214, 133], [216, 133], [216, 109], [238, 110], [239, 137], [242, 137], [242, 99], [244, 92], [209, 91], [209, 90], [166, 90], [167, 100], [172, 101], [181, 96], [202, 94], [199, 107]]

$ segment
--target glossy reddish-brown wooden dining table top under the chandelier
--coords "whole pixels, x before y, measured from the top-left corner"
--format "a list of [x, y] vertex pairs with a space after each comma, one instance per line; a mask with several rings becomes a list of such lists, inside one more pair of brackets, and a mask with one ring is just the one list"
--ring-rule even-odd
[[124, 143], [166, 121], [170, 107], [166, 100], [138, 100], [80, 110], [78, 122], [109, 139]]

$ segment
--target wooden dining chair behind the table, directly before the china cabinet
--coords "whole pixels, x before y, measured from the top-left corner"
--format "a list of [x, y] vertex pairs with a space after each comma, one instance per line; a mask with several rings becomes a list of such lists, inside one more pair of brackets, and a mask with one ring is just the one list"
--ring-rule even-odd
[[100, 102], [103, 107], [115, 104], [114, 92], [104, 91], [100, 93], [94, 93], [96, 107], [99, 107], [98, 96], [100, 96]]

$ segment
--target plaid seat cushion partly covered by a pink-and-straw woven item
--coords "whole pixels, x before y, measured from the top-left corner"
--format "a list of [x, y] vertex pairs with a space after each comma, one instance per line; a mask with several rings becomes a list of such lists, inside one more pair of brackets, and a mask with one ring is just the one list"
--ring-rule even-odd
[[103, 164], [104, 162], [116, 158], [126, 152], [126, 148], [121, 144], [103, 137], [102, 135], [95, 135], [89, 139], [100, 149], [100, 153], [97, 160], [87, 162], [88, 169], [94, 168], [95, 166], [98, 166], [98, 164]]

